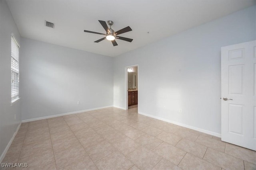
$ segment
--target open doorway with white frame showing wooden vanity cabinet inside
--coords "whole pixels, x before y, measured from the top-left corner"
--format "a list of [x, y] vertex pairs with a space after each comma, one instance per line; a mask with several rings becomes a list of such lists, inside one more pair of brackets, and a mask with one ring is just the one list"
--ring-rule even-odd
[[126, 110], [138, 108], [138, 65], [125, 67], [125, 90]]

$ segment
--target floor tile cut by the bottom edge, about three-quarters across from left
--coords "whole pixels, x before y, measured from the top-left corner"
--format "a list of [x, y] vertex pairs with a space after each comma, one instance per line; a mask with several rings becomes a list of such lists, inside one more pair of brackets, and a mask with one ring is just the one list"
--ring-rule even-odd
[[186, 153], [184, 158], [181, 160], [179, 167], [184, 170], [221, 170], [220, 166], [216, 166], [190, 153]]

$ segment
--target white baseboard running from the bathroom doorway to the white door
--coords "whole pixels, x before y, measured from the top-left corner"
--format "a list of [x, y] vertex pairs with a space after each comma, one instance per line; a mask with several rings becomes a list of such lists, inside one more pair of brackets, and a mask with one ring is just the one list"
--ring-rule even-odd
[[213, 135], [213, 136], [216, 136], [216, 137], [221, 137], [220, 133], [215, 133], [215, 132], [212, 132], [212, 131], [207, 131], [207, 130], [204, 130], [204, 129], [200, 129], [198, 127], [186, 125], [186, 124], [179, 123], [179, 122], [176, 122], [176, 121], [170, 121], [168, 119], [164, 119], [162, 117], [158, 117], [158, 116], [154, 116], [154, 115], [149, 115], [147, 113], [142, 113], [142, 112], [138, 112], [138, 113], [141, 114], [141, 115], [145, 115], [145, 116], [148, 116], [148, 117], [152, 117], [152, 118], [158, 119], [158, 120], [162, 120], [162, 121], [166, 121], [166, 122], [169, 122], [169, 123], [173, 123], [175, 125], [179, 125], [179, 126], [182, 126], [182, 127], [186, 127], [186, 128], [189, 128], [189, 129], [200, 131], [202, 133], [206, 133], [206, 134]]

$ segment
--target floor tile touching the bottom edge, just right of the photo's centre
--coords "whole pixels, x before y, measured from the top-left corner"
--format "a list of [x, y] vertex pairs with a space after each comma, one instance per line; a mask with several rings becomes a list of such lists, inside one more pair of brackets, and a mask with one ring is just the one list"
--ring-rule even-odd
[[141, 170], [152, 169], [161, 159], [154, 152], [145, 147], [139, 147], [126, 156]]

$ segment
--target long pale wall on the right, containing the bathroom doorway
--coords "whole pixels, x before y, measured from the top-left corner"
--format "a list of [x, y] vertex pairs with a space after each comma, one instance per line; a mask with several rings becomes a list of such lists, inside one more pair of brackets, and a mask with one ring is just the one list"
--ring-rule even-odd
[[256, 39], [255, 12], [252, 6], [114, 58], [114, 106], [125, 107], [125, 67], [138, 64], [140, 113], [220, 134], [220, 48]]

